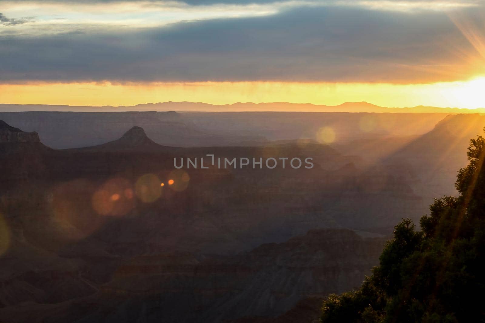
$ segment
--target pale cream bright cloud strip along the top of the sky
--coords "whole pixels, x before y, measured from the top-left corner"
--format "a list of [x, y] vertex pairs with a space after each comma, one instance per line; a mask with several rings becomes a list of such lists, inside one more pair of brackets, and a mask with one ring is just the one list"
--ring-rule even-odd
[[[214, 2], [213, 2], [214, 1]], [[42, 35], [73, 30], [108, 28], [162, 27], [184, 21], [200, 21], [220, 18], [270, 16], [297, 8], [366, 9], [378, 12], [446, 12], [480, 7], [477, 0], [201, 0], [190, 4], [162, 0], [104, 0], [91, 2], [66, 1], [2, 1], [2, 11], [8, 16], [24, 16], [8, 19], [9, 26], [25, 22], [37, 15], [37, 23], [25, 24], [22, 35]], [[66, 5], [66, 2], [68, 5]], [[483, 7], [483, 5], [482, 5]], [[58, 16], [63, 19], [57, 18]], [[103, 27], [104, 26], [104, 27]], [[2, 30], [3, 35], [15, 35], [12, 28]], [[20, 34], [20, 32], [18, 32]]]

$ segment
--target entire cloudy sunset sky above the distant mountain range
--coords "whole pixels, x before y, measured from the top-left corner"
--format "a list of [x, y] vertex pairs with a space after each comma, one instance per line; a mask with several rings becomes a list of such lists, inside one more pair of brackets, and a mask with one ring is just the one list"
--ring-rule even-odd
[[485, 107], [484, 0], [0, 0], [0, 103]]

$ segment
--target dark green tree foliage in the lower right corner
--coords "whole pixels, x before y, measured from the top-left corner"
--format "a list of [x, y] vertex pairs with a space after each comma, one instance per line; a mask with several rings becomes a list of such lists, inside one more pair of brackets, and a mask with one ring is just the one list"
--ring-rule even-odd
[[398, 223], [360, 289], [324, 300], [322, 322], [485, 322], [482, 136], [470, 140], [468, 160], [460, 195], [436, 199], [420, 231], [409, 219]]

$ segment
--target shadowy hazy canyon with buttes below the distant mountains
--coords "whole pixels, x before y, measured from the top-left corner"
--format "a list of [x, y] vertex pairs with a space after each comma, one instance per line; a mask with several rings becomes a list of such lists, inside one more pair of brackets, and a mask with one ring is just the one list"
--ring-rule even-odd
[[[221, 115], [213, 127], [182, 122], [194, 127], [183, 138], [194, 136], [193, 142], [208, 147], [176, 147], [145, 132], [148, 121], [157, 132], [160, 120], [153, 116], [164, 113], [119, 113], [122, 122], [114, 125], [102, 124], [111, 113], [35, 114], [29, 123], [24, 113], [0, 113], [9, 120], [0, 122], [0, 320], [6, 322], [317, 320], [318, 308], [310, 310], [310, 304], [358, 288], [399, 220], [417, 221], [430, 200], [453, 194], [468, 140], [484, 125], [480, 115], [429, 115], [424, 122], [402, 114], [396, 119], [401, 128], [381, 135], [359, 128], [327, 145], [284, 137], [264, 118], [251, 133], [237, 131], [233, 116]], [[184, 116], [178, 115], [167, 113], [175, 121], [163, 122], [183, 134], [177, 120]], [[292, 120], [299, 124], [295, 131], [311, 126], [309, 119], [325, 118], [344, 131], [339, 115], [301, 116], [301, 123]], [[209, 124], [205, 117], [199, 125]], [[280, 125], [291, 122], [270, 117]], [[368, 115], [355, 114], [346, 127], [353, 129], [362, 117]], [[75, 125], [55, 128], [63, 118]], [[92, 126], [95, 120], [99, 128]], [[39, 134], [14, 127], [19, 125], [27, 131], [40, 125]], [[404, 131], [411, 126], [414, 132]], [[117, 138], [99, 142], [122, 128]], [[194, 135], [209, 128], [218, 135]], [[209, 145], [230, 128], [230, 140], [249, 134], [266, 139]], [[106, 129], [113, 129], [108, 137], [81, 135]], [[82, 138], [53, 149], [44, 137], [61, 147]], [[83, 140], [91, 144], [76, 147]], [[174, 157], [207, 153], [312, 156], [315, 167], [173, 166]]]

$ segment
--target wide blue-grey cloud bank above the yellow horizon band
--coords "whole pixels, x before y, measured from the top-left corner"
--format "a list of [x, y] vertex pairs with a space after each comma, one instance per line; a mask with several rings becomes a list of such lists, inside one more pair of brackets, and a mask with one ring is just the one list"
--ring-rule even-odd
[[431, 82], [468, 76], [476, 55], [444, 13], [314, 7], [125, 32], [3, 37], [0, 81]]

